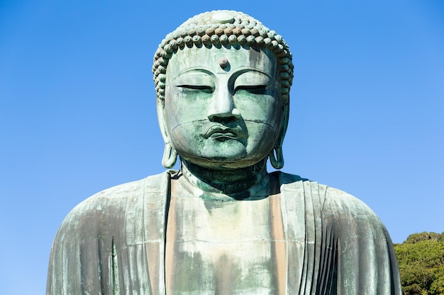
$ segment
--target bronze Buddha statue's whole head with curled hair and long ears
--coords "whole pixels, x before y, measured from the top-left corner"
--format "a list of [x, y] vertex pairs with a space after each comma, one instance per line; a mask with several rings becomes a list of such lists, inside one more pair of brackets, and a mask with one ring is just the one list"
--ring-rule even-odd
[[179, 154], [214, 169], [270, 156], [282, 168], [293, 64], [280, 35], [244, 13], [201, 13], [162, 40], [152, 72], [163, 166]]

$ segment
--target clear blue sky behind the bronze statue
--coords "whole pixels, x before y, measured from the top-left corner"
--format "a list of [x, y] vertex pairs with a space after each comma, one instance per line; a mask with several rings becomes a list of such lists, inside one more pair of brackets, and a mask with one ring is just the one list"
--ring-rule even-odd
[[283, 170], [359, 197], [396, 243], [444, 231], [443, 1], [0, 0], [0, 294], [44, 294], [70, 209], [164, 170], [152, 55], [221, 8], [294, 54]]

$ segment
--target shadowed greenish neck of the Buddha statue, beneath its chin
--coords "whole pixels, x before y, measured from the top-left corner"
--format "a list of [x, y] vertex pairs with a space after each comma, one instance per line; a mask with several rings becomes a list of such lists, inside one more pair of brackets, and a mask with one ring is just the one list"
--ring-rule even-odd
[[181, 158], [182, 175], [204, 192], [226, 195], [246, 192], [267, 175], [267, 158], [253, 166], [238, 169], [213, 170], [194, 165]]

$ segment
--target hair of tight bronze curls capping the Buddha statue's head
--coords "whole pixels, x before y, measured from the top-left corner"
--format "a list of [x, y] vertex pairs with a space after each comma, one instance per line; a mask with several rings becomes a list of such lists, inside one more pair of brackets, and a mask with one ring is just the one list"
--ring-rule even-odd
[[270, 49], [279, 62], [282, 99], [288, 102], [293, 63], [287, 42], [255, 18], [242, 12], [226, 10], [204, 12], [189, 18], [160, 42], [152, 65], [158, 100], [165, 98], [166, 71], [172, 54], [194, 46], [259, 46]]

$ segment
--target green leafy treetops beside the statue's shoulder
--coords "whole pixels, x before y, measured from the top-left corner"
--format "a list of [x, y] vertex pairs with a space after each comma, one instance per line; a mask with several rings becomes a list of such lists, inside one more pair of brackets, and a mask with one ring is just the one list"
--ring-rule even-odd
[[444, 295], [444, 232], [411, 234], [394, 250], [404, 295]]

